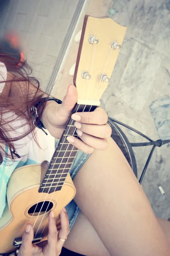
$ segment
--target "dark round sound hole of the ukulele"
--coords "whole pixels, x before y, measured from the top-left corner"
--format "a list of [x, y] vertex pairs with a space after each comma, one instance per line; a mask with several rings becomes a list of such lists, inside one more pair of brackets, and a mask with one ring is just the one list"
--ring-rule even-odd
[[52, 207], [53, 207], [53, 203], [51, 203], [49, 201], [40, 202], [38, 204], [34, 204], [31, 208], [29, 208], [28, 214], [31, 216], [33, 214], [34, 214], [34, 216], [37, 216], [40, 212], [39, 215], [42, 215], [45, 212], [50, 211]]

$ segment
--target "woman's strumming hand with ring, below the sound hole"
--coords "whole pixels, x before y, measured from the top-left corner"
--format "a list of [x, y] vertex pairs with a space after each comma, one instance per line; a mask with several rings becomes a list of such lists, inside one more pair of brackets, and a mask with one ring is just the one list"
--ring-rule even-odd
[[18, 256], [59, 256], [64, 244], [62, 240], [65, 240], [69, 233], [69, 221], [65, 208], [60, 213], [60, 220], [61, 229], [58, 232], [54, 212], [50, 213], [48, 219], [48, 243], [43, 248], [32, 244], [34, 230], [31, 224], [27, 224]]

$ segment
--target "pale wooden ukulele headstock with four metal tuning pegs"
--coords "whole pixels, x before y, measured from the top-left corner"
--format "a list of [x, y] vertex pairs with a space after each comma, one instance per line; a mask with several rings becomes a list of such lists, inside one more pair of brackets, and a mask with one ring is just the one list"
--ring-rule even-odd
[[111, 18], [85, 15], [82, 32], [75, 38], [79, 42], [79, 50], [74, 85], [79, 100], [99, 101], [101, 98], [108, 86], [126, 29]]

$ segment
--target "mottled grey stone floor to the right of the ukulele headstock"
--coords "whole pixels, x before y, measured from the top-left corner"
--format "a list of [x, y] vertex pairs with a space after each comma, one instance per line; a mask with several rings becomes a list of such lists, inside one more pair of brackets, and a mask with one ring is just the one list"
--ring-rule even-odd
[[[170, 1], [114, 0], [108, 15], [127, 26], [127, 33], [102, 105], [151, 139], [170, 139]], [[130, 142], [146, 141], [125, 132]], [[134, 149], [139, 174], [150, 150]], [[143, 189], [156, 215], [169, 218], [170, 145], [156, 148]]]

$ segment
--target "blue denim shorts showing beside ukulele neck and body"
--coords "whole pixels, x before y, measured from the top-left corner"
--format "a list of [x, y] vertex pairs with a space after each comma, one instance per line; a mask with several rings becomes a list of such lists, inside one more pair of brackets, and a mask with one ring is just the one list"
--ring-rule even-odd
[[[59, 140], [55, 139], [55, 146], [57, 145]], [[77, 153], [77, 156], [75, 157], [74, 163], [71, 166], [71, 170], [69, 172], [71, 179], [74, 180], [74, 177], [77, 175], [77, 172], [79, 172], [79, 169], [82, 167], [82, 165], [85, 163], [85, 161], [90, 157], [91, 154], [85, 154], [83, 151], [79, 150]], [[68, 219], [70, 223], [70, 230], [74, 225], [74, 222], [76, 221], [76, 218], [79, 214], [79, 207], [74, 202], [74, 199], [65, 207]]]

